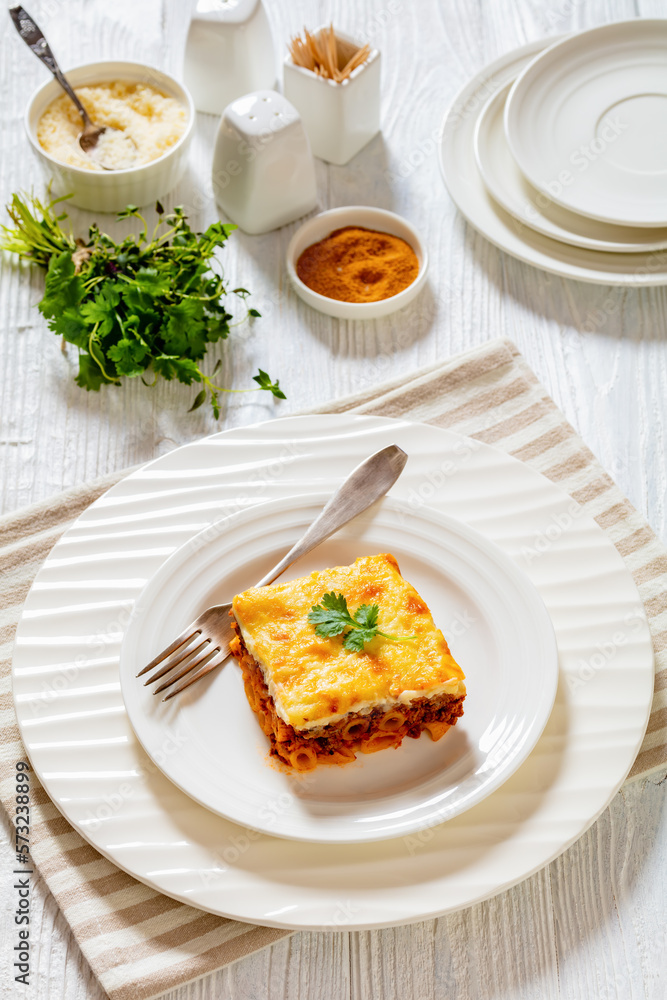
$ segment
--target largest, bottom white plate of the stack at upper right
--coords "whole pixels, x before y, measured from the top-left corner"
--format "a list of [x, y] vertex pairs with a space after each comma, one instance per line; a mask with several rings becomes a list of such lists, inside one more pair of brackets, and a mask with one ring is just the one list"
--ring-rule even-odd
[[489, 97], [515, 79], [538, 52], [540, 39], [501, 56], [454, 98], [445, 115], [440, 166], [447, 189], [471, 226], [500, 250], [550, 274], [600, 285], [647, 287], [667, 282], [667, 250], [605, 253], [538, 233], [506, 212], [489, 192], [475, 160], [475, 129]]

